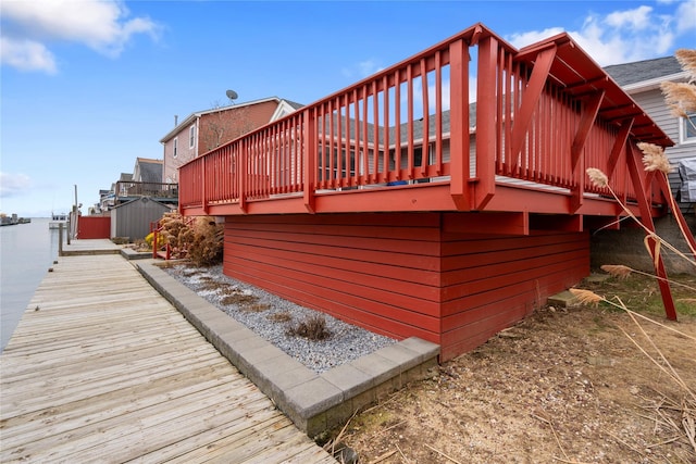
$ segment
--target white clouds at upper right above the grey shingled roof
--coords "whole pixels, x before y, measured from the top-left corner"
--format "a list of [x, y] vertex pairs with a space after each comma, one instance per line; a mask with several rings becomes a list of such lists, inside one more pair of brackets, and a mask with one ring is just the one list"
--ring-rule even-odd
[[[591, 14], [580, 30], [568, 33], [597, 63], [606, 66], [668, 54], [678, 34], [696, 28], [694, 17], [696, 0], [679, 3], [673, 15], [656, 14], [654, 8], [639, 5], [605, 16]], [[560, 27], [533, 30], [514, 34], [509, 40], [521, 48], [561, 32]]]

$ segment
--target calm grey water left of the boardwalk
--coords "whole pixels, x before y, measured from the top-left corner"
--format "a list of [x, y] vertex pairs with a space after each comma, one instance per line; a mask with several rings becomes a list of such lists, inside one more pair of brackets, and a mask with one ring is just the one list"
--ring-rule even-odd
[[0, 324], [4, 349], [37, 287], [58, 259], [58, 230], [51, 220], [0, 227]]

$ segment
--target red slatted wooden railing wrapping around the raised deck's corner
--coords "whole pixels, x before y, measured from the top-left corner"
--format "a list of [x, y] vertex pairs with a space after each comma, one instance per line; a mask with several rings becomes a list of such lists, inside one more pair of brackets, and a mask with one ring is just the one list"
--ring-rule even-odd
[[630, 148], [617, 148], [630, 124], [594, 117], [601, 91], [579, 95], [543, 75], [555, 57], [554, 45], [547, 48], [532, 65], [484, 26], [472, 26], [182, 166], [179, 204], [244, 209], [277, 196], [311, 201], [346, 189], [440, 181], [458, 209], [480, 210], [496, 183], [509, 179], [575, 198], [606, 195], [585, 167], [612, 171], [612, 189], [634, 198]]

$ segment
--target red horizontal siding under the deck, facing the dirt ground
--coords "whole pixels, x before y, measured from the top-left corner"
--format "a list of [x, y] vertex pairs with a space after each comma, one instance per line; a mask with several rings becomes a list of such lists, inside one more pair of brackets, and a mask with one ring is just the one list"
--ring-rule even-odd
[[487, 240], [448, 237], [443, 244], [442, 359], [485, 342], [549, 296], [589, 273], [585, 233], [539, 234]]

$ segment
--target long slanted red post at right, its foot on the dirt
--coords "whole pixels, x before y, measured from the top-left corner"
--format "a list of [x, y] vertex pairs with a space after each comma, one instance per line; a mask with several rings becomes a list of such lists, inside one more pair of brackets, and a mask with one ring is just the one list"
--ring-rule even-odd
[[664, 305], [664, 313], [670, 321], [676, 321], [676, 310], [674, 308], [674, 299], [672, 298], [672, 291], [670, 284], [667, 280], [667, 271], [664, 269], [664, 262], [657, 246], [657, 239], [652, 237], [655, 235], [655, 223], [652, 222], [652, 215], [650, 211], [650, 203], [645, 195], [645, 185], [641, 176], [641, 163], [638, 161], [638, 154], [633, 147], [626, 149], [626, 162], [629, 164], [629, 174], [633, 181], [633, 189], [638, 200], [638, 209], [641, 211], [641, 223], [646, 229], [646, 246], [648, 252], [652, 258], [652, 265], [655, 266], [655, 274], [658, 278], [658, 285], [660, 287], [660, 293], [662, 296], [662, 304]]

